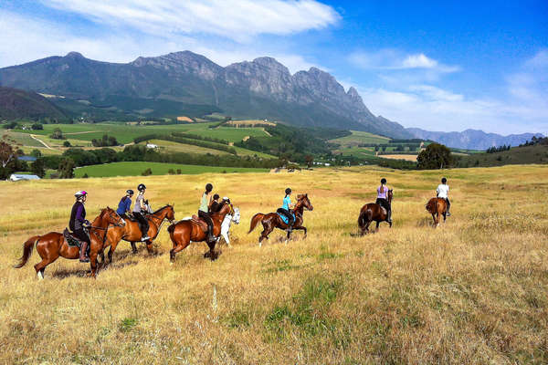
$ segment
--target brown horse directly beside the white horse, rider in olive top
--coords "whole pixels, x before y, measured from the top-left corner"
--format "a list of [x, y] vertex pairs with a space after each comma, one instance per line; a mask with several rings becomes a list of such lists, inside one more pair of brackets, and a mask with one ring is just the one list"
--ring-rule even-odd
[[[221, 235], [221, 224], [225, 219], [225, 215], [234, 213], [232, 203], [221, 204], [222, 207], [218, 212], [210, 214], [213, 221], [213, 235], [215, 236]], [[175, 255], [184, 250], [191, 242], [205, 242], [209, 246], [209, 252], [206, 252], [204, 257], [209, 257], [211, 261], [216, 260], [219, 256], [215, 251], [215, 245], [218, 240], [207, 242], [207, 224], [204, 221], [196, 223], [194, 219], [185, 219], [171, 224], [167, 228], [167, 232], [169, 232], [169, 236], [174, 243], [174, 248], [169, 252], [172, 264], [175, 262]]]

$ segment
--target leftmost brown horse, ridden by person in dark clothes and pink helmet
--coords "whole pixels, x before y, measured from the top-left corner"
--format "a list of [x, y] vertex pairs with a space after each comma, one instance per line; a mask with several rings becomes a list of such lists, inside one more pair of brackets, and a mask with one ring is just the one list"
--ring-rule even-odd
[[[97, 271], [97, 255], [102, 251], [110, 224], [123, 226], [125, 221], [109, 207], [101, 210], [97, 218], [91, 223], [90, 266], [91, 276], [93, 277], [95, 277]], [[42, 261], [35, 265], [39, 279], [44, 278], [46, 266], [57, 260], [59, 256], [72, 260], [79, 258], [78, 246], [69, 246], [63, 234], [49, 232], [46, 235], [35, 235], [26, 240], [23, 245], [23, 255], [19, 259], [19, 264], [14, 267], [25, 266], [35, 245], [37, 246], [38, 255], [42, 257]]]

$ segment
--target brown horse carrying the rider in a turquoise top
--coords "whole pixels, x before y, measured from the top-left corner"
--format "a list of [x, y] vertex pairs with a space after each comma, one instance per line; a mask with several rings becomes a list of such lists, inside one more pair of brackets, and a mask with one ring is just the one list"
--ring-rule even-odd
[[[312, 206], [311, 201], [308, 198], [308, 193], [297, 195], [297, 203], [295, 203], [295, 208], [293, 209], [293, 213], [295, 214], [295, 223], [293, 224], [292, 228], [304, 231], [304, 238], [306, 238], [306, 227], [302, 225], [302, 214], [304, 212], [304, 208], [308, 209], [309, 211], [314, 210], [314, 207]], [[251, 225], [249, 226], [248, 235], [253, 232], [258, 222], [263, 224], [263, 231], [261, 232], [260, 237], [258, 237], [259, 247], [262, 245], [263, 239], [269, 239], [269, 235], [272, 233], [272, 231], [274, 231], [274, 228], [279, 228], [283, 230], [288, 229], [288, 224], [285, 224], [283, 222], [278, 213], [258, 213], [253, 215], [253, 218], [251, 218]], [[290, 232], [288, 232], [288, 235], [286, 237], [286, 243], [289, 239]]]

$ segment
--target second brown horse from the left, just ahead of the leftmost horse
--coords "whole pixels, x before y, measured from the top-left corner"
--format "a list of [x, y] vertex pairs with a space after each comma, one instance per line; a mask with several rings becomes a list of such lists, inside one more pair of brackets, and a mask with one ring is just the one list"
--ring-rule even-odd
[[[151, 237], [145, 243], [146, 249], [150, 254], [153, 252], [153, 241], [160, 233], [160, 228], [162, 227], [163, 221], [167, 219], [168, 221], [173, 223], [175, 220], [175, 211], [172, 205], [167, 204], [158, 209], [153, 214], [146, 214], [145, 216], [146, 219], [149, 221], [148, 236]], [[135, 242], [141, 242], [141, 237], [142, 233], [139, 224], [135, 221], [130, 221], [129, 219], [126, 220], [126, 224], [123, 227], [115, 227], [109, 229], [107, 241], [105, 242], [105, 245], [103, 247], [106, 248], [109, 245], [111, 246], [111, 249], [109, 250], [109, 262], [112, 262], [112, 255], [114, 254], [114, 251], [116, 250], [116, 247], [121, 240], [130, 242], [132, 244], [132, 253], [136, 254], [137, 247], [135, 246]], [[101, 251], [100, 254], [104, 262], [104, 252]]]

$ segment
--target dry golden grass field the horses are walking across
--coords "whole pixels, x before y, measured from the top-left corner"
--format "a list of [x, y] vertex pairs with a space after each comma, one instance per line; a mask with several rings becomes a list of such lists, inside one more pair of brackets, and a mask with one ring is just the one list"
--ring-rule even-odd
[[[444, 172], [361, 169], [0, 183], [1, 363], [547, 363], [548, 169]], [[437, 230], [424, 205], [441, 175], [453, 216]], [[360, 207], [385, 176], [392, 230], [354, 236]], [[96, 280], [58, 259], [37, 281], [30, 235], [60, 231], [72, 193], [88, 212], [143, 182], [154, 206], [194, 213], [207, 182], [240, 207], [234, 248], [216, 262], [195, 244], [169, 265], [163, 229], [153, 257], [121, 243]], [[257, 245], [249, 218], [283, 190], [308, 192], [306, 240]], [[300, 237], [300, 233], [295, 234]]]

